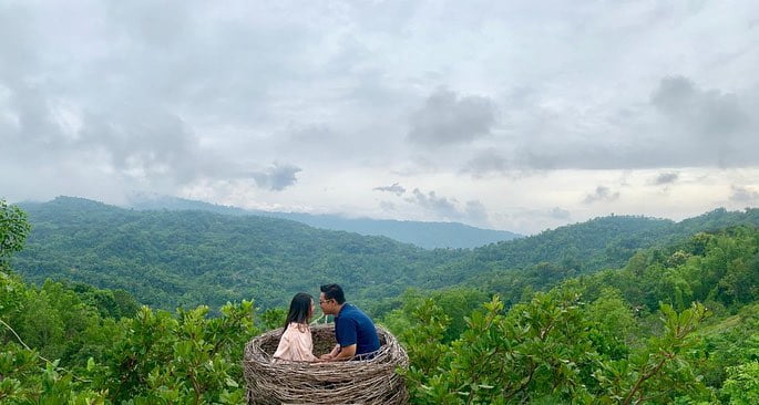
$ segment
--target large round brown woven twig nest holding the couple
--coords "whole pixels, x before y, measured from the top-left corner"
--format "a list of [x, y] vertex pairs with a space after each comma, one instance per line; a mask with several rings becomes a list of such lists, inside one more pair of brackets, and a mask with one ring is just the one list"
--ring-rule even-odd
[[[245, 381], [249, 404], [406, 404], [408, 393], [397, 367], [409, 356], [390, 332], [378, 326], [380, 349], [371, 360], [306, 363], [271, 362], [281, 329], [245, 346]], [[311, 326], [314, 353], [335, 347], [335, 325]]]

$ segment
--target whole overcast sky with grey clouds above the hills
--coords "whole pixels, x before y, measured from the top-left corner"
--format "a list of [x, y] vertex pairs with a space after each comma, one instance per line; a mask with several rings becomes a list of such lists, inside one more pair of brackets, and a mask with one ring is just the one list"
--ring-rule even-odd
[[0, 0], [0, 198], [537, 232], [759, 206], [759, 2]]

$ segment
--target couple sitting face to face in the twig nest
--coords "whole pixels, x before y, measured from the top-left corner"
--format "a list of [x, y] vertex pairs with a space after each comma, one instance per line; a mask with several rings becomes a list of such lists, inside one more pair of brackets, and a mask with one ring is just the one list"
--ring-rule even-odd
[[335, 340], [337, 345], [331, 352], [318, 359], [314, 355], [314, 342], [308, 326], [314, 315], [314, 299], [299, 292], [290, 302], [285, 329], [275, 361], [296, 362], [337, 362], [346, 360], [368, 360], [379, 350], [379, 336], [375, 323], [355, 305], [346, 302], [342, 288], [326, 284], [320, 288], [319, 307], [325, 315], [335, 315]]

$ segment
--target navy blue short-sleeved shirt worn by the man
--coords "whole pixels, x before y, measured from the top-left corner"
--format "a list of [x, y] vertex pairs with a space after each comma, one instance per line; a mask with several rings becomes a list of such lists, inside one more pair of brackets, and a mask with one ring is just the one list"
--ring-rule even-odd
[[335, 339], [340, 347], [356, 345], [356, 355], [379, 350], [375, 323], [358, 308], [346, 303], [335, 316]]

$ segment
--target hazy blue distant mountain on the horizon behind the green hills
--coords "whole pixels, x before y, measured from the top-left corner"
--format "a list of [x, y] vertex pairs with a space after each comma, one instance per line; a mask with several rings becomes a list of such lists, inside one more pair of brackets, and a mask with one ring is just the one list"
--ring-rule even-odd
[[522, 237], [521, 235], [505, 230], [482, 229], [459, 222], [399, 221], [371, 218], [346, 218], [339, 215], [270, 212], [158, 195], [136, 195], [131, 198], [129, 206], [141, 210], [202, 210], [225, 215], [259, 215], [290, 219], [315, 228], [343, 230], [366, 236], [383, 236], [425, 249], [476, 248]]

